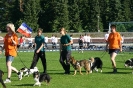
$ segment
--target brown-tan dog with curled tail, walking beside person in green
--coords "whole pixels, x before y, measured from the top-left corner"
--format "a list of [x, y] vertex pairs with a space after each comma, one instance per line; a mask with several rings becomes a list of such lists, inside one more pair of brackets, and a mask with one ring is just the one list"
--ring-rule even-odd
[[82, 75], [82, 72], [81, 72], [82, 67], [84, 67], [84, 69], [86, 70], [86, 74], [91, 73], [91, 67], [90, 67], [91, 62], [90, 61], [88, 61], [88, 60], [79, 60], [78, 61], [78, 60], [75, 60], [74, 57], [70, 57], [69, 62], [75, 69], [73, 75], [76, 75], [77, 70], [79, 70], [79, 73]]

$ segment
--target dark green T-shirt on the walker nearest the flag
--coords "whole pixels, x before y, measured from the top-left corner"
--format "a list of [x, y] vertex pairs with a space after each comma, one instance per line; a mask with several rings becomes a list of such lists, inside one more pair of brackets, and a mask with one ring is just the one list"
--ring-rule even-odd
[[[44, 41], [45, 41], [45, 37], [42, 35], [41, 36], [37, 35], [35, 37], [36, 50], [39, 49], [42, 44], [44, 44]], [[44, 47], [42, 47], [40, 51], [45, 51]]]

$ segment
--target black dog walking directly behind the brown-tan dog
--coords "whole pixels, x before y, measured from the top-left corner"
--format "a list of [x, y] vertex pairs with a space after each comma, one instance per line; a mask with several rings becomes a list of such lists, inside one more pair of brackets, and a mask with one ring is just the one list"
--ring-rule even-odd
[[102, 72], [102, 66], [103, 66], [103, 62], [99, 57], [91, 57], [89, 58], [89, 61], [91, 61], [91, 70], [93, 72], [93, 70], [95, 69], [96, 72], [98, 72], [98, 68], [101, 69]]

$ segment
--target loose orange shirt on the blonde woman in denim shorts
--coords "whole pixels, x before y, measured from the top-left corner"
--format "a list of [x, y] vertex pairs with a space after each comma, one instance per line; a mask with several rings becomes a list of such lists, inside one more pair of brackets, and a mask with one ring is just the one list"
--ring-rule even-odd
[[[13, 37], [13, 40], [16, 42], [16, 45], [13, 44], [11, 37]], [[5, 56], [17, 56], [17, 44], [18, 44], [18, 36], [16, 33], [9, 36], [6, 34], [4, 38], [4, 48], [5, 48]]]

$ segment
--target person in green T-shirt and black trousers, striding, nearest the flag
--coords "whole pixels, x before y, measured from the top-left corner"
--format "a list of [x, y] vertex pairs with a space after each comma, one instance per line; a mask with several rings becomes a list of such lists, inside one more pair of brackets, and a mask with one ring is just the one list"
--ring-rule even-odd
[[42, 32], [43, 29], [39, 28], [37, 30], [37, 36], [35, 36], [35, 44], [34, 44], [35, 52], [30, 69], [33, 69], [36, 66], [39, 58], [41, 58], [41, 62], [43, 65], [43, 73], [46, 73], [46, 57], [45, 57], [45, 48], [44, 48], [45, 37], [42, 36]]

